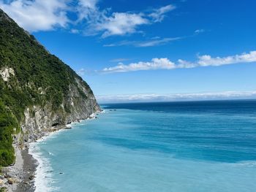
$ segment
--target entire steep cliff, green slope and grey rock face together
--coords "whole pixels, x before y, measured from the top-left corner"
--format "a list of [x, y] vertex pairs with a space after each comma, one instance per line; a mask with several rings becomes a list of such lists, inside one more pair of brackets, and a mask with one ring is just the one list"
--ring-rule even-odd
[[10, 134], [30, 142], [99, 110], [89, 85], [0, 9], [0, 165], [14, 160]]

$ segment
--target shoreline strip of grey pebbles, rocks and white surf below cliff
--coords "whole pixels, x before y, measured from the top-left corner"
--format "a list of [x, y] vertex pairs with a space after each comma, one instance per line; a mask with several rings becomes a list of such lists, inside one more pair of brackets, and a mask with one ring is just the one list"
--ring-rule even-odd
[[[89, 115], [89, 118], [82, 120], [75, 120], [72, 123], [66, 125], [56, 126], [54, 128], [45, 128], [42, 131], [42, 136], [37, 138], [34, 142], [26, 142], [22, 148], [18, 145], [14, 145], [15, 148], [15, 164], [12, 166], [7, 166], [2, 168], [2, 173], [4, 175], [4, 184], [1, 185], [2, 188], [6, 188], [9, 192], [34, 192], [36, 191], [37, 174], [42, 168], [44, 160], [42, 160], [37, 153], [34, 153], [33, 149], [38, 142], [45, 141], [50, 136], [59, 133], [59, 131], [64, 131], [72, 128], [72, 124], [80, 123], [84, 120], [91, 120], [97, 118], [97, 115], [104, 112], [98, 111]], [[48, 171], [50, 172], [50, 171]], [[13, 180], [13, 183], [8, 183], [9, 179]]]

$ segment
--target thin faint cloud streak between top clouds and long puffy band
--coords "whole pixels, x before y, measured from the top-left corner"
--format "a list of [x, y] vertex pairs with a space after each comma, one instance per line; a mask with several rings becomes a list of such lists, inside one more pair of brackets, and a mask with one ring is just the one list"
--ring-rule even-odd
[[103, 45], [103, 47], [118, 47], [118, 46], [124, 46], [124, 45], [131, 45], [134, 47], [154, 47], [159, 45], [166, 45], [169, 42], [177, 41], [182, 38], [184, 37], [173, 37], [173, 38], [158, 37], [158, 38], [149, 39], [146, 41], [122, 41], [122, 42], [106, 44], [106, 45]]

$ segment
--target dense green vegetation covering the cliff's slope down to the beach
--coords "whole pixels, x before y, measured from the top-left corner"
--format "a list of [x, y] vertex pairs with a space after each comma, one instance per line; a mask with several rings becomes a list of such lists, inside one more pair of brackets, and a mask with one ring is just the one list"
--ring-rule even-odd
[[[24, 120], [24, 110], [49, 101], [59, 110], [72, 83], [81, 78], [0, 9], [0, 166], [14, 161], [12, 131]], [[86, 88], [89, 85], [83, 82]], [[81, 94], [83, 97], [86, 97]], [[70, 112], [69, 106], [64, 106]]]

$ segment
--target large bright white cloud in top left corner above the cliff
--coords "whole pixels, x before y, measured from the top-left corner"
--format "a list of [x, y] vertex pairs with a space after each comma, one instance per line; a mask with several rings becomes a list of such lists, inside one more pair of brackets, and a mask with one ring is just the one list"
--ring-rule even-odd
[[65, 0], [14, 0], [9, 4], [0, 0], [0, 7], [27, 31], [53, 30], [69, 22]]

